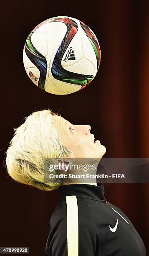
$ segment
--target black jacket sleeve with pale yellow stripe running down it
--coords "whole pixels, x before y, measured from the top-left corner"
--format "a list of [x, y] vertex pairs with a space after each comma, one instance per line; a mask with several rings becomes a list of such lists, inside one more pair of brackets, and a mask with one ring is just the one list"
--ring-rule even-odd
[[46, 252], [55, 255], [57, 247], [58, 256], [93, 256], [99, 251], [98, 240], [98, 230], [86, 198], [75, 195], [61, 198], [50, 219]]

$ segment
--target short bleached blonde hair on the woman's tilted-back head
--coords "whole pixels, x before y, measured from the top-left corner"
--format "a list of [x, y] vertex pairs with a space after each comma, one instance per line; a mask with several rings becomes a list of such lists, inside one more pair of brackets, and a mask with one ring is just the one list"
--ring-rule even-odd
[[[8, 174], [16, 181], [41, 190], [52, 191], [61, 186], [61, 179], [44, 182], [45, 159], [69, 156], [71, 151], [58, 138], [56, 123], [51, 110], [32, 113], [20, 127], [14, 129], [14, 137], [6, 153]], [[57, 174], [53, 171], [53, 174]]]

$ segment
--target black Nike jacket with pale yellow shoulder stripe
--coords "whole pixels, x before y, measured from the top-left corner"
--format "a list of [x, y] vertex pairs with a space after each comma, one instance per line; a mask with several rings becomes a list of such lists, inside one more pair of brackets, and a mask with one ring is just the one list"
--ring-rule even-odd
[[146, 256], [129, 218], [106, 202], [104, 185], [70, 184], [49, 223], [47, 256]]

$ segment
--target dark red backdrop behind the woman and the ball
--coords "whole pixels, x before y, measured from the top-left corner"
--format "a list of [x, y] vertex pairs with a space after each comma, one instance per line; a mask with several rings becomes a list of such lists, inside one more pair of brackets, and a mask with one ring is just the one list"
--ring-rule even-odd
[[[73, 124], [90, 124], [104, 157], [149, 158], [149, 2], [22, 1], [1, 3], [0, 246], [29, 246], [42, 256], [58, 191], [11, 181], [3, 163], [13, 128], [34, 110], [60, 110]], [[67, 15], [91, 27], [101, 46], [96, 78], [72, 95], [48, 94], [30, 81], [23, 46], [41, 21]], [[141, 172], [141, 170], [140, 170]], [[149, 184], [105, 184], [106, 199], [134, 224], [149, 253]]]

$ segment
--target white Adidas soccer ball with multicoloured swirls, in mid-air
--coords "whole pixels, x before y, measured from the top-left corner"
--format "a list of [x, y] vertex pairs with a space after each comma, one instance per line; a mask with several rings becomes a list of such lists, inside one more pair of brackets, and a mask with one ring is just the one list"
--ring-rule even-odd
[[25, 70], [40, 89], [66, 95], [86, 87], [96, 76], [101, 59], [98, 40], [80, 20], [54, 17], [29, 34], [24, 50]]

